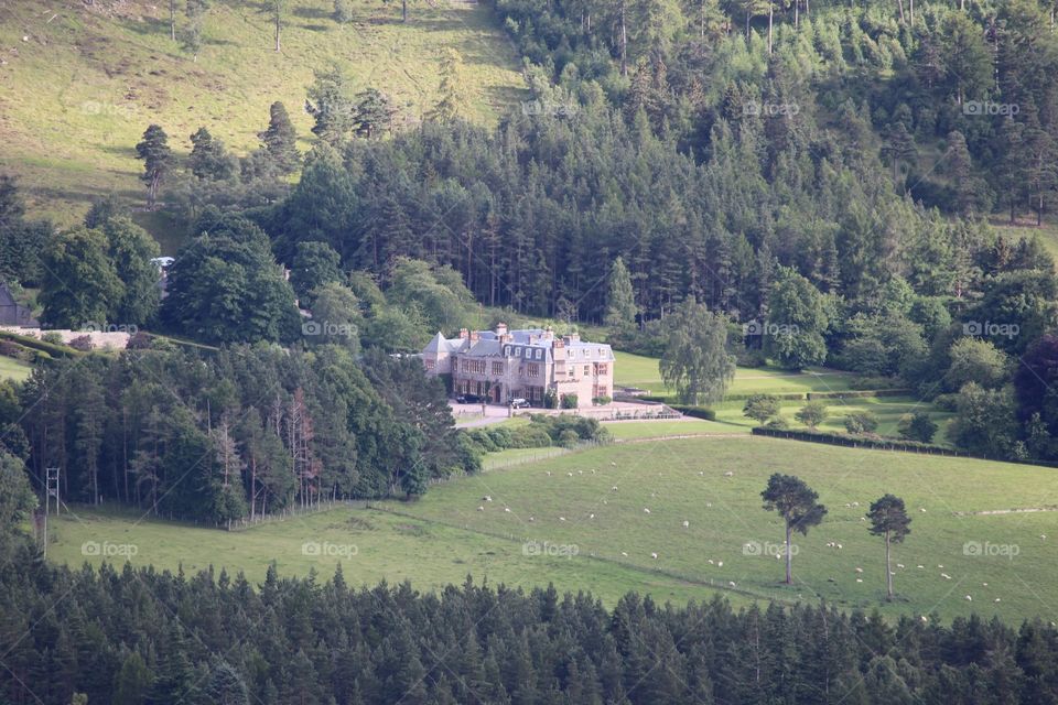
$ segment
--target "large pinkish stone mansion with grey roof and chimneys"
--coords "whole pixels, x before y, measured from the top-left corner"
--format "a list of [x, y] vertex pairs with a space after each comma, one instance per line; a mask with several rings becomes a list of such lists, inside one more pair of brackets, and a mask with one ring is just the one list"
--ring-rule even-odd
[[422, 350], [431, 375], [450, 375], [454, 394], [476, 394], [492, 403], [526, 399], [542, 406], [548, 390], [561, 400], [575, 394], [577, 406], [614, 394], [614, 352], [608, 345], [587, 343], [577, 334], [555, 337], [550, 328], [440, 333]]

